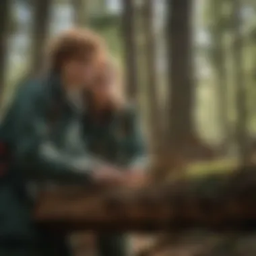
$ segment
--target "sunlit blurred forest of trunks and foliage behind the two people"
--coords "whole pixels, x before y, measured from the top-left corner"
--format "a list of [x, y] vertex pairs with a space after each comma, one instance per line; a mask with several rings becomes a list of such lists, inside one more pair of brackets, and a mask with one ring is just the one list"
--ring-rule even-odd
[[[164, 0], [5, 1], [1, 113], [18, 81], [36, 71], [49, 38], [72, 26], [89, 27], [104, 37], [126, 71], [127, 96], [137, 102], [154, 153], [166, 149], [162, 141], [171, 152], [172, 139], [181, 136], [187, 141], [183, 148], [197, 152], [197, 162], [253, 158], [255, 1], [187, 0], [181, 7]], [[179, 11], [183, 19], [172, 15]], [[180, 47], [182, 38], [189, 40]], [[175, 129], [184, 131], [177, 135]]]

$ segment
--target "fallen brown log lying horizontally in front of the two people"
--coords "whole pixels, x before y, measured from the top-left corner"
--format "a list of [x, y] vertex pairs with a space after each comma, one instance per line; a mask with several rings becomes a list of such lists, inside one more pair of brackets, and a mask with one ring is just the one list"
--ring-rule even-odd
[[38, 224], [70, 230], [256, 229], [256, 167], [140, 189], [45, 191]]

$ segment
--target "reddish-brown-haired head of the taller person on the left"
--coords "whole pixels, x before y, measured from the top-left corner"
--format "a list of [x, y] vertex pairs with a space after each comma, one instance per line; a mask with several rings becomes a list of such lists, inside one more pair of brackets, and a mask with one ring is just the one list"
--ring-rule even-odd
[[61, 33], [49, 45], [49, 64], [69, 86], [84, 86], [94, 76], [97, 63], [106, 55], [106, 46], [98, 34], [73, 28]]

